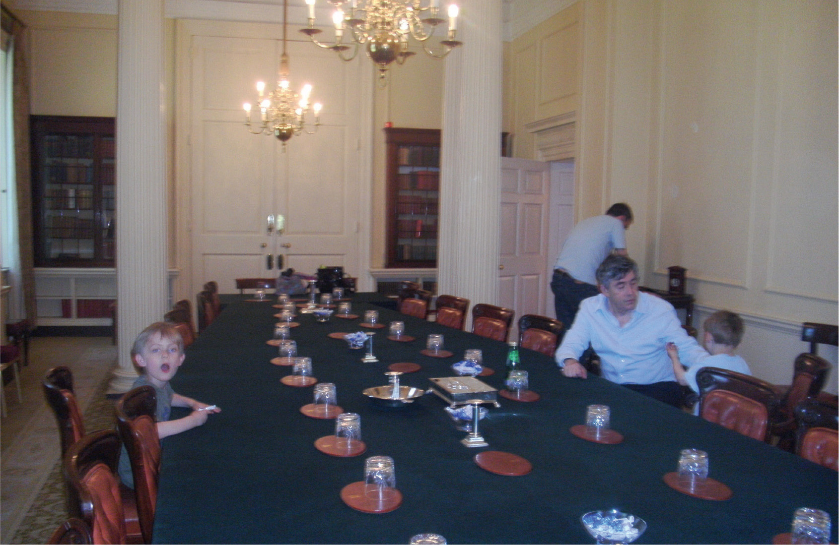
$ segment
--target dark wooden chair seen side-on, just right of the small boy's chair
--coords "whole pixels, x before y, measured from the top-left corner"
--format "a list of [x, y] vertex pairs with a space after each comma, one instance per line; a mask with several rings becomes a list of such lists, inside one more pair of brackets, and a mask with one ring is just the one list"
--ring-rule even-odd
[[772, 433], [777, 436], [781, 449], [793, 451], [795, 447], [795, 407], [808, 397], [818, 397], [824, 387], [831, 364], [815, 354], [802, 353], [793, 363], [792, 384], [778, 387], [784, 392], [779, 418], [773, 423]]

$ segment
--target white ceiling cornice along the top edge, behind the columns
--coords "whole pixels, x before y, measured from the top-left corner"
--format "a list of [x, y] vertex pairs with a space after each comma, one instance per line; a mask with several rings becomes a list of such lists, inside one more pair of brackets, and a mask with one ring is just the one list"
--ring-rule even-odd
[[[510, 41], [577, 0], [502, 0], [503, 39]], [[443, 3], [446, 3], [444, 0]], [[12, 0], [12, 8], [74, 13], [117, 13], [117, 0]], [[329, 21], [330, 6], [317, 4]], [[283, 0], [164, 0], [168, 18], [219, 19], [279, 23], [283, 20]], [[305, 21], [305, 0], [289, 0], [289, 21]]]

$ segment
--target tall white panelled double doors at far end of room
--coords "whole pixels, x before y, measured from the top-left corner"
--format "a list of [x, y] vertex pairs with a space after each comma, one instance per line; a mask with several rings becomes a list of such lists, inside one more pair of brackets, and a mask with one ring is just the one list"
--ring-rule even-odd
[[[256, 82], [276, 86], [282, 28], [272, 24], [181, 23], [178, 88], [187, 90], [185, 143], [190, 195], [191, 292], [208, 280], [221, 293], [235, 278], [269, 278], [294, 267], [342, 266], [357, 276], [367, 234], [369, 155], [362, 143], [361, 63], [345, 63], [315, 45], [289, 42], [291, 85], [314, 86], [324, 105], [315, 134], [294, 136], [285, 148], [274, 136], [244, 125], [243, 102], [255, 102]], [[290, 34], [290, 33], [289, 33]], [[179, 94], [184, 94], [180, 91]], [[258, 109], [253, 118], [258, 121]], [[369, 117], [369, 116], [368, 116]], [[309, 127], [314, 129], [314, 127]], [[184, 142], [184, 140], [180, 140]], [[367, 148], [367, 149], [365, 149]], [[274, 219], [273, 226], [269, 218]], [[271, 228], [273, 227], [273, 228]]]

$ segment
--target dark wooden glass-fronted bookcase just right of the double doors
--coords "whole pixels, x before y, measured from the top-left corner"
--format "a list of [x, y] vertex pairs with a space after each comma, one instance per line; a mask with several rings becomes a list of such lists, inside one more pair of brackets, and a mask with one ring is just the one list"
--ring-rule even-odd
[[386, 127], [387, 267], [437, 266], [440, 130]]

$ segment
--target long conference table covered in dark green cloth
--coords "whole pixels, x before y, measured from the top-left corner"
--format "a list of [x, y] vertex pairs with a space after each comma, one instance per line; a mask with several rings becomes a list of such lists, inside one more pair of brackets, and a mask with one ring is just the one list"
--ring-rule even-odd
[[[503, 388], [507, 346], [471, 333], [414, 319], [381, 306], [375, 294], [356, 294], [353, 314], [377, 309], [387, 324], [405, 322], [411, 342], [388, 340], [375, 330], [378, 363], [362, 363], [366, 350], [350, 350], [332, 332], [371, 331], [362, 319], [316, 323], [300, 314], [292, 329], [300, 356], [310, 356], [320, 382], [334, 382], [338, 405], [361, 415], [367, 452], [338, 458], [314, 443], [334, 433], [334, 420], [309, 418], [312, 387], [288, 387], [288, 366], [270, 360], [272, 302], [226, 296], [227, 307], [186, 350], [172, 383], [175, 392], [216, 403], [222, 412], [185, 433], [163, 440], [154, 522], [158, 543], [407, 543], [433, 532], [449, 543], [590, 543], [580, 516], [618, 508], [649, 525], [638, 543], [769, 543], [789, 532], [801, 506], [827, 511], [837, 542], [837, 474], [819, 465], [683, 413], [599, 377], [561, 376], [551, 358], [521, 350], [536, 402], [499, 397], [486, 406], [481, 432], [489, 444], [466, 448], [434, 394], [404, 409], [378, 407], [362, 396], [388, 383], [388, 365], [414, 362], [420, 371], [401, 376], [404, 386], [430, 387], [431, 377], [453, 376], [451, 365], [467, 348], [483, 351], [495, 372], [481, 377]], [[445, 335], [454, 356], [423, 356], [426, 336]], [[569, 431], [583, 423], [586, 406], [612, 409], [620, 444], [596, 444]], [[183, 409], [180, 409], [183, 410]], [[177, 410], [173, 418], [181, 416]], [[733, 492], [727, 501], [686, 496], [664, 483], [680, 449], [702, 449], [710, 476]], [[500, 450], [529, 460], [524, 476], [482, 470], [474, 456]], [[395, 511], [369, 514], [341, 501], [341, 488], [363, 480], [368, 456], [393, 457], [403, 495]]]

